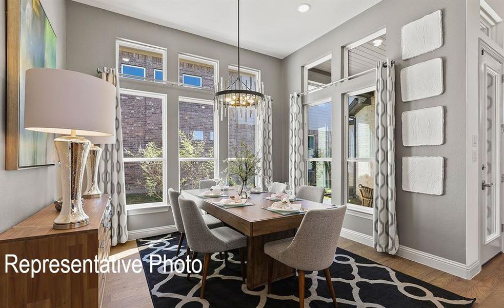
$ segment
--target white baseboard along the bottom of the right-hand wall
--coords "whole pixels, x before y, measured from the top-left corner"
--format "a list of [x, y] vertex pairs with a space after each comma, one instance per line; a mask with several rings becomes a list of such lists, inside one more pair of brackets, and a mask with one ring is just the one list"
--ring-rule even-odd
[[[341, 237], [370, 247], [374, 246], [372, 236], [355, 232], [350, 229], [342, 228]], [[471, 264], [466, 265], [402, 245], [399, 245], [399, 250], [397, 251], [396, 255], [414, 261], [416, 263], [439, 269], [439, 271], [446, 272], [464, 279], [472, 279], [481, 271], [481, 264], [479, 264], [479, 261], [477, 260]]]

